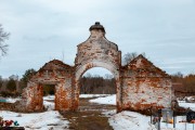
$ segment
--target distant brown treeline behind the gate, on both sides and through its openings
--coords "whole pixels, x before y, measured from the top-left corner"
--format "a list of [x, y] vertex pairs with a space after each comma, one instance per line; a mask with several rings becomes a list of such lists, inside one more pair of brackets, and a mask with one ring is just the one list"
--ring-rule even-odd
[[[36, 70], [28, 69], [21, 79], [15, 75], [10, 76], [8, 79], [2, 79], [0, 76], [0, 94], [5, 96], [20, 95], [35, 73]], [[182, 91], [184, 94], [195, 94], [195, 74], [183, 76], [181, 73], [177, 73], [176, 75], [172, 75], [171, 78], [174, 84], [180, 84], [180, 91]], [[116, 93], [116, 81], [112, 75], [105, 75], [104, 77], [101, 77], [99, 75], [92, 76], [91, 74], [87, 74], [80, 78], [79, 86], [80, 93], [82, 94]], [[54, 94], [54, 86], [43, 86], [44, 94]]]

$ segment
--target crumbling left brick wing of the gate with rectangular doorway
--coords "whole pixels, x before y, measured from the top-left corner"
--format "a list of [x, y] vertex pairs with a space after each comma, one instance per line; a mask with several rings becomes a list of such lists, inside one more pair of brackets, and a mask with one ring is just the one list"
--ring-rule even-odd
[[61, 61], [53, 60], [41, 67], [30, 79], [24, 90], [23, 98], [28, 110], [43, 109], [42, 84], [55, 84], [55, 109], [69, 110], [72, 108], [72, 80], [74, 67]]

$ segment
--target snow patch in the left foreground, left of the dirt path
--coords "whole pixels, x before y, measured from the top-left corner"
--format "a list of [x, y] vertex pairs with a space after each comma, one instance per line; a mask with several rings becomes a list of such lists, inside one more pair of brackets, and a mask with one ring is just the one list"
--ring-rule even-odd
[[0, 116], [2, 116], [4, 120], [17, 120], [21, 127], [25, 127], [25, 130], [49, 130], [52, 128], [62, 130], [68, 127], [68, 121], [63, 120], [63, 117], [56, 110], [34, 114], [18, 114], [0, 110]]

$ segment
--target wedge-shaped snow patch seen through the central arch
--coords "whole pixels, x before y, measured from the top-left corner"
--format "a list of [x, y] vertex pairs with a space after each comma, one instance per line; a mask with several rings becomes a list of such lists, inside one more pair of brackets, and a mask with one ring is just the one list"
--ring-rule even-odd
[[116, 105], [116, 94], [90, 100], [91, 103]]

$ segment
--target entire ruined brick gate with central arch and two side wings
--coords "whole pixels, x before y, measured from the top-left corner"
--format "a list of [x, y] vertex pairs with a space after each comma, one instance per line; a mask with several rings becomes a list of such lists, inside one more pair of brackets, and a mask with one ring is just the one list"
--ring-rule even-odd
[[116, 79], [117, 112], [145, 110], [171, 106], [171, 79], [143, 55], [121, 66], [118, 46], [105, 38], [100, 23], [90, 27], [90, 37], [77, 46], [75, 66], [53, 60], [30, 79], [23, 92], [28, 110], [43, 109], [42, 84], [55, 86], [55, 109], [76, 110], [79, 104], [79, 79], [90, 68], [108, 69]]

